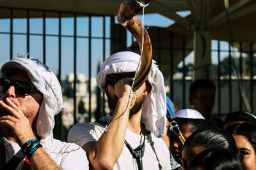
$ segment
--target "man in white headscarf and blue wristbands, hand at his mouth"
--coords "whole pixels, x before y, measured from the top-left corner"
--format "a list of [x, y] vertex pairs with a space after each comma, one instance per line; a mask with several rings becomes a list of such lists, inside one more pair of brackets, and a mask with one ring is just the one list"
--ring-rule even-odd
[[23, 55], [6, 62], [0, 92], [0, 169], [88, 169], [82, 148], [52, 137], [63, 100], [49, 67]]

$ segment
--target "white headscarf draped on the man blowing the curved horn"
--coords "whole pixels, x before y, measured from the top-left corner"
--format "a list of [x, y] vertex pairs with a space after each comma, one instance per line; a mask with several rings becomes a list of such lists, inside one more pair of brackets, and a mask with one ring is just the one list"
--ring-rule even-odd
[[[100, 67], [97, 75], [97, 85], [104, 90], [106, 75], [134, 72], [139, 62], [140, 55], [134, 52], [118, 52], [111, 55]], [[152, 90], [144, 99], [141, 120], [148, 131], [161, 138], [166, 128], [166, 93], [163, 74], [155, 63], [153, 60], [152, 69], [148, 75]]]

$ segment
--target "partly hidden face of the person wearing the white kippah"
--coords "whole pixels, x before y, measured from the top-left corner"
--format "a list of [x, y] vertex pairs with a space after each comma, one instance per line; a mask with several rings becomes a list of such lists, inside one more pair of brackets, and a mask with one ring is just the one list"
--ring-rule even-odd
[[[179, 125], [180, 131], [182, 132], [185, 139], [187, 139], [193, 133], [190, 131], [190, 126], [191, 125], [189, 124]], [[173, 158], [176, 160], [176, 162], [181, 164], [182, 149], [183, 149], [182, 142], [173, 131], [170, 131], [169, 138], [170, 138], [170, 151], [173, 155]]]

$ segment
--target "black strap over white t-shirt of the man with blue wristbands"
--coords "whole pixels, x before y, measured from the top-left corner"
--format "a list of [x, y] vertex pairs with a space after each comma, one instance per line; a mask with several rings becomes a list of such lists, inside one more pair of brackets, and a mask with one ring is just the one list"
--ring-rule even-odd
[[7, 163], [5, 163], [6, 161], [6, 153], [5, 153], [5, 146], [4, 146], [4, 137], [3, 134], [1, 132], [1, 128], [0, 128], [0, 136], [1, 136], [1, 140], [0, 140], [0, 154], [3, 155], [4, 159], [0, 159], [1, 160], [1, 164], [0, 164], [0, 169], [1, 170], [12, 170], [12, 169], [16, 169], [16, 167], [20, 164], [20, 162], [26, 157], [26, 155], [24, 155], [24, 153], [21, 152], [21, 150], [19, 150], [19, 152], [17, 152], [12, 159], [10, 159]]

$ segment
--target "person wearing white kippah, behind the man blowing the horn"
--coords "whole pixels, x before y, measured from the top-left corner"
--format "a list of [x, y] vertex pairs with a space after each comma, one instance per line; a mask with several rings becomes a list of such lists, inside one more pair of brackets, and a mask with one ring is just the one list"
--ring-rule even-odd
[[[179, 110], [175, 113], [172, 119], [179, 125], [179, 129], [185, 139], [200, 127], [205, 126], [205, 118], [201, 113], [193, 109]], [[173, 162], [173, 165], [175, 166], [172, 166], [172, 169], [177, 170], [181, 165], [183, 145], [175, 132], [170, 131], [170, 129], [168, 129], [168, 136], [170, 138], [170, 152], [172, 153], [171, 160], [174, 159], [178, 163], [174, 164]]]

